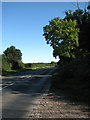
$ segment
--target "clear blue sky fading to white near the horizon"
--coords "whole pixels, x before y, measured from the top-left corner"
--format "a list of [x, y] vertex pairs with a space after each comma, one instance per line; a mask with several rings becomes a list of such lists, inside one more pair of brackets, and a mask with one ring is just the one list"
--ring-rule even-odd
[[[85, 7], [84, 2], [79, 5]], [[76, 8], [73, 2], [3, 2], [2, 51], [14, 45], [24, 63], [58, 61], [46, 44], [43, 27], [54, 17], [64, 18], [65, 10]]]

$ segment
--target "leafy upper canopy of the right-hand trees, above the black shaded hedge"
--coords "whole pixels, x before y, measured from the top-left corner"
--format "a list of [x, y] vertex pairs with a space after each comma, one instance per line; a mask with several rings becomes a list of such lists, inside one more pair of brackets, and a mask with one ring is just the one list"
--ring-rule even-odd
[[[87, 9], [90, 9], [87, 7]], [[90, 14], [84, 9], [65, 11], [65, 18], [54, 18], [43, 27], [47, 44], [53, 47], [54, 57], [75, 58], [90, 51]]]

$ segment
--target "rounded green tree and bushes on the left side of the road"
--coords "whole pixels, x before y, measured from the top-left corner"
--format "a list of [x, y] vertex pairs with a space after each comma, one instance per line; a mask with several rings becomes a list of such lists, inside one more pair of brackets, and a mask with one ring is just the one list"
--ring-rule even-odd
[[22, 53], [14, 46], [7, 48], [2, 55], [2, 71], [23, 69], [24, 64], [21, 62]]

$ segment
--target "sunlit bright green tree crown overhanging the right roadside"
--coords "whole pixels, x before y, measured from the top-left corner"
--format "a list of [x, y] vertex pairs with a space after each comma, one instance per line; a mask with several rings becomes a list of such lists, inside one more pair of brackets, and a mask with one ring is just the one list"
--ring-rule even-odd
[[74, 58], [74, 49], [79, 46], [78, 33], [75, 20], [60, 19], [59, 17], [49, 21], [43, 30], [47, 44], [53, 47], [54, 57]]

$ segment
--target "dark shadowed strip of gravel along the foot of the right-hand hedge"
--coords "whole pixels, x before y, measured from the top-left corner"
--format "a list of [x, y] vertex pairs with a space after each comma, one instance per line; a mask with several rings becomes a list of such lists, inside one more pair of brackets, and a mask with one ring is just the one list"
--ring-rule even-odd
[[58, 91], [55, 89], [50, 89], [48, 96], [51, 101], [56, 101], [56, 102], [62, 101], [62, 102], [67, 103], [68, 105], [72, 105], [72, 107], [73, 106], [80, 107], [82, 112], [90, 112], [90, 107], [89, 107], [88, 103], [76, 101], [76, 100], [72, 99], [72, 97], [69, 94], [66, 94], [62, 90]]

